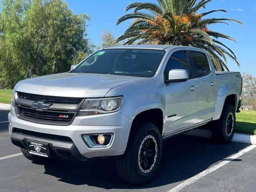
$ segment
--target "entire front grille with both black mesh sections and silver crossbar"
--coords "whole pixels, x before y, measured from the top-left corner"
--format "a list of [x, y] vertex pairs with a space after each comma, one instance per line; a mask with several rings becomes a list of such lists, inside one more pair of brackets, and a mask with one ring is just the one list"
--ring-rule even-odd
[[[44, 96], [18, 92], [15, 100], [17, 117], [30, 122], [53, 125], [70, 125], [74, 120], [83, 98]], [[37, 103], [35, 106], [34, 103]], [[38, 102], [50, 104], [42, 108]]]

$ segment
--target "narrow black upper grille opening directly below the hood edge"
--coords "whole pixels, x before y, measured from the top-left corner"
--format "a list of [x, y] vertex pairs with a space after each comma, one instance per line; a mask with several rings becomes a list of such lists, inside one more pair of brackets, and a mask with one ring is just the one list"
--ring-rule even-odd
[[18, 92], [18, 96], [19, 98], [33, 100], [33, 101], [46, 100], [47, 102], [66, 103], [66, 104], [78, 104], [82, 100], [82, 98], [36, 95], [36, 94], [23, 93], [23, 92]]

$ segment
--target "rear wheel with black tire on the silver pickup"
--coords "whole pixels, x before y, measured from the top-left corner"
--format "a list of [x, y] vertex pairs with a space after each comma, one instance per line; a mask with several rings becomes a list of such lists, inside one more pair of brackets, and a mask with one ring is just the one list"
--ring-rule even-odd
[[224, 104], [219, 120], [213, 122], [212, 138], [221, 143], [229, 143], [236, 127], [236, 114], [231, 104]]

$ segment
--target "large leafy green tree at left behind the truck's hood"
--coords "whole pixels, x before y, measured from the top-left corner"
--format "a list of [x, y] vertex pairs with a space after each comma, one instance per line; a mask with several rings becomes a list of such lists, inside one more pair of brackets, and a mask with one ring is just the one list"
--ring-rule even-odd
[[0, 88], [24, 78], [66, 72], [92, 52], [86, 14], [62, 0], [0, 0]]

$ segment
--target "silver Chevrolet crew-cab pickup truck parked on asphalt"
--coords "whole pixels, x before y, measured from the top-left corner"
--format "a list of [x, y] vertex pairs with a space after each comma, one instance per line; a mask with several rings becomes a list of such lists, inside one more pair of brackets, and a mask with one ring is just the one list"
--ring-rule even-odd
[[230, 142], [241, 90], [241, 74], [215, 72], [204, 50], [112, 46], [69, 72], [18, 82], [9, 132], [34, 162], [111, 156], [122, 180], [144, 184], [164, 139], [210, 123], [214, 140]]

